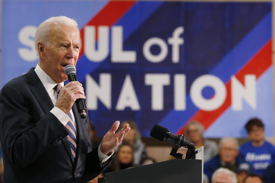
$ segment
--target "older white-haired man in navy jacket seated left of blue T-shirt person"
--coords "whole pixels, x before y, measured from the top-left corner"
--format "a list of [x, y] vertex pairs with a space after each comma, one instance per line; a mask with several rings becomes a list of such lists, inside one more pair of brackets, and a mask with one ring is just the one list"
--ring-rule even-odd
[[238, 142], [234, 138], [222, 138], [219, 144], [219, 154], [205, 162], [203, 172], [211, 180], [212, 174], [220, 167], [228, 168], [236, 172], [240, 164], [245, 163], [244, 158], [239, 155]]

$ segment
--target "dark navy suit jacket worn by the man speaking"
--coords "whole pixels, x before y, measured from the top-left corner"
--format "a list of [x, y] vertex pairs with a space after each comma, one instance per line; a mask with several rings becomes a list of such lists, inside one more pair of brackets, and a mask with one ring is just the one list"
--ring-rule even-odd
[[[76, 159], [68, 132], [50, 112], [54, 107], [34, 68], [3, 86], [0, 93], [0, 139], [5, 183], [87, 182], [100, 174], [97, 149], [91, 149], [89, 119], [76, 105]], [[111, 161], [111, 158], [110, 160]]]

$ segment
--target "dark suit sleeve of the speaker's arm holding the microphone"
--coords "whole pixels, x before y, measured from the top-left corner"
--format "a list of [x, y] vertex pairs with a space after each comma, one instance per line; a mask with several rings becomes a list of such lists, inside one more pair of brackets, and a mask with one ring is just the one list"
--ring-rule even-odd
[[[25, 91], [26, 92], [26, 91]], [[31, 101], [13, 86], [6, 85], [0, 93], [0, 136], [2, 148], [12, 164], [25, 168], [48, 148], [57, 138], [68, 132], [63, 124], [50, 112], [39, 121], [34, 120]]]

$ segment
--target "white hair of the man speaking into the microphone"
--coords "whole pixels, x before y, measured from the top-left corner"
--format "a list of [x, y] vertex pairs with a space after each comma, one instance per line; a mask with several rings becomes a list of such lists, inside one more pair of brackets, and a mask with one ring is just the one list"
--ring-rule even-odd
[[65, 16], [51, 17], [45, 20], [38, 26], [34, 37], [34, 44], [35, 44], [35, 49], [37, 54], [38, 54], [38, 47], [37, 47], [38, 41], [41, 41], [45, 45], [49, 45], [49, 42], [50, 42], [49, 34], [50, 34], [50, 30], [53, 28], [53, 25], [66, 25], [66, 26], [78, 27], [75, 20]]

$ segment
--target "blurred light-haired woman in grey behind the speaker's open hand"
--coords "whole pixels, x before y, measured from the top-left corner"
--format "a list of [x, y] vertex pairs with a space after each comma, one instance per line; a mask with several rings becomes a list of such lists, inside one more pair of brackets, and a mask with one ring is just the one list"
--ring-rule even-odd
[[147, 157], [146, 146], [142, 142], [137, 125], [133, 120], [126, 120], [122, 124], [129, 124], [129, 127], [131, 128], [131, 130], [128, 132], [127, 138], [123, 139], [123, 141], [121, 142], [121, 145], [129, 144], [133, 147], [134, 163], [135, 165], [139, 165], [141, 159]]

